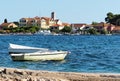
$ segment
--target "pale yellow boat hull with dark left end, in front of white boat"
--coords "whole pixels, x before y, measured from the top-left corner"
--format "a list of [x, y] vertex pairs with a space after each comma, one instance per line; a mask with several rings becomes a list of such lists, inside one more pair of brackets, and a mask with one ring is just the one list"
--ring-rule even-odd
[[64, 60], [67, 53], [56, 54], [11, 54], [13, 61]]

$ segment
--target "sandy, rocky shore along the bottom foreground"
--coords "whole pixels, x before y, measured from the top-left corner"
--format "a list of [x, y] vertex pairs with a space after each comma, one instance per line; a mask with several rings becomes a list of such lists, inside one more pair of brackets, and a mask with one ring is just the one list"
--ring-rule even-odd
[[120, 81], [120, 74], [50, 72], [2, 67], [0, 81]]

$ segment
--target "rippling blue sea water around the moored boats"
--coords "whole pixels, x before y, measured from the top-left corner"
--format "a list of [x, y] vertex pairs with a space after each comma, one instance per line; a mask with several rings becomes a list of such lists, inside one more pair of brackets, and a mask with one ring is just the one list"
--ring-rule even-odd
[[[71, 54], [68, 54], [63, 61], [12, 61], [8, 54], [9, 43], [51, 50], [67, 50]], [[65, 72], [120, 73], [120, 36], [1, 35], [0, 67]]]

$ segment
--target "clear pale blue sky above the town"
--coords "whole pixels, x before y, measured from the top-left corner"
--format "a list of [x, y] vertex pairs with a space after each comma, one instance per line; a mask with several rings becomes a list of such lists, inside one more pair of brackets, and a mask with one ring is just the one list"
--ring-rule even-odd
[[120, 0], [1, 0], [0, 23], [23, 17], [51, 17], [66, 23], [104, 22], [106, 14], [120, 14]]

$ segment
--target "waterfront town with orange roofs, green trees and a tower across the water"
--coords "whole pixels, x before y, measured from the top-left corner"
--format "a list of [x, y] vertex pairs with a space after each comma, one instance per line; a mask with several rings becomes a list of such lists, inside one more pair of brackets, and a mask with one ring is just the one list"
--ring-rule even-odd
[[[107, 16], [109, 17], [111, 14], [108, 13]], [[117, 21], [117, 24], [106, 22], [92, 22], [92, 24], [66, 23], [57, 19], [55, 12], [52, 12], [51, 17], [21, 18], [18, 22], [8, 22], [7, 19], [4, 19], [4, 22], [0, 25], [0, 34], [41, 34], [46, 32], [54, 35], [111, 35], [120, 33], [119, 21]]]

